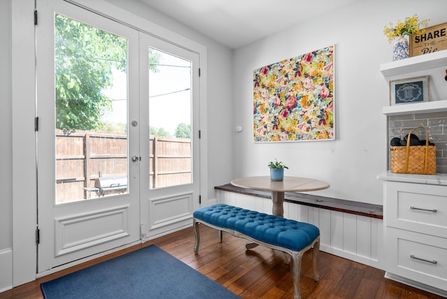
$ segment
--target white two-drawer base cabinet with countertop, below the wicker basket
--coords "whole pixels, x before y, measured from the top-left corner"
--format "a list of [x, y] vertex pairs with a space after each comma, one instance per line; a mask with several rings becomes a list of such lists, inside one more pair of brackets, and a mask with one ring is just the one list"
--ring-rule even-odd
[[386, 277], [447, 296], [447, 176], [386, 173], [379, 179]]

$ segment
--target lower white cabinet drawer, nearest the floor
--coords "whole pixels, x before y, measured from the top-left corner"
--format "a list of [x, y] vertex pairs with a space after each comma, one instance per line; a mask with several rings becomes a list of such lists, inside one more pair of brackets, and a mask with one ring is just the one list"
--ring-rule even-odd
[[447, 291], [447, 239], [388, 228], [386, 270]]

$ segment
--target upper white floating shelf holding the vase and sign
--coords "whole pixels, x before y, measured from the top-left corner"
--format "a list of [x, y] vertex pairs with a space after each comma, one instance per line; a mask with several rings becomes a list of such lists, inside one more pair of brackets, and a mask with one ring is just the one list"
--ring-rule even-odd
[[439, 66], [447, 66], [447, 50], [386, 62], [380, 65], [380, 71], [389, 77]]

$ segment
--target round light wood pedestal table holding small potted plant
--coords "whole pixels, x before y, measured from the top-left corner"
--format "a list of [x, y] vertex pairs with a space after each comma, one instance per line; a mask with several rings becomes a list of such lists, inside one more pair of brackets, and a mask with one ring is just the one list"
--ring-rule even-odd
[[231, 184], [241, 188], [272, 191], [272, 213], [279, 217], [284, 217], [284, 192], [316, 191], [330, 187], [327, 182], [306, 177], [284, 177], [282, 182], [274, 182], [270, 180], [270, 176], [240, 177], [232, 180]]

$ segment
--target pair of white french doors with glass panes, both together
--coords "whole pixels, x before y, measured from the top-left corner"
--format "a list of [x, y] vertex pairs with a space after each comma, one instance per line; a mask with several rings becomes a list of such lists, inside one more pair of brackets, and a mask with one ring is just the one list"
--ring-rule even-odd
[[37, 8], [37, 271], [190, 225], [198, 54], [66, 1]]

